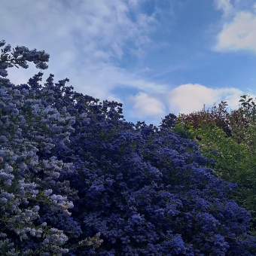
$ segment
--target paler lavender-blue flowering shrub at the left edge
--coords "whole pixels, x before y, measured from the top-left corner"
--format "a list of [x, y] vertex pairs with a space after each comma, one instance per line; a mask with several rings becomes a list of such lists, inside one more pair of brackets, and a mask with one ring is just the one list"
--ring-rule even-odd
[[[5, 53], [10, 49], [8, 45], [2, 50], [2, 76], [7, 75], [6, 61], [10, 58]], [[32, 53], [37, 62], [37, 52]], [[45, 66], [41, 65], [41, 69]], [[74, 130], [74, 122], [75, 117], [65, 108], [59, 112], [42, 104], [38, 89], [26, 84], [16, 87], [6, 78], [0, 81], [1, 255], [62, 255], [69, 252], [62, 245], [81, 233], [68, 210], [73, 207], [72, 198], [77, 197], [77, 191], [69, 187], [69, 181], [59, 180], [59, 172], [72, 172], [72, 163], [62, 163], [54, 156], [39, 160], [36, 155], [39, 150], [49, 152], [55, 146], [51, 137], [63, 144]], [[47, 215], [58, 216], [66, 232], [43, 221]], [[99, 246], [98, 236], [99, 233], [93, 238], [87, 237], [72, 247]]]

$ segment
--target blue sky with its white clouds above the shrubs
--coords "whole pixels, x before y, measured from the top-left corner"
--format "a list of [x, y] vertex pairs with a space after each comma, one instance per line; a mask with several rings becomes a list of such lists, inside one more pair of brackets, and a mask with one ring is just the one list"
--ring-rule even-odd
[[[123, 103], [127, 121], [256, 97], [252, 0], [2, 0], [0, 41], [45, 50], [48, 76], [84, 95]], [[40, 70], [8, 69], [13, 84]]]

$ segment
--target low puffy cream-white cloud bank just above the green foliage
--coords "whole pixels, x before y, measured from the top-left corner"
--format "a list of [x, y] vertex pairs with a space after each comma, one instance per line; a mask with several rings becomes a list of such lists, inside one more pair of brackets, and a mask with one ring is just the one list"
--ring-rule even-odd
[[[173, 90], [165, 93], [137, 93], [135, 96], [128, 96], [127, 99], [133, 104], [133, 112], [130, 117], [137, 120], [145, 120], [150, 117], [154, 123], [160, 122], [160, 119], [166, 114], [172, 113], [178, 116], [179, 113], [190, 114], [194, 111], [201, 111], [203, 105], [205, 110], [214, 106], [218, 108], [221, 101], [227, 102], [227, 112], [239, 108], [240, 96], [248, 94], [255, 98], [253, 93], [244, 93], [236, 88], [217, 88], [212, 89], [201, 84], [182, 84]], [[166, 106], [169, 105], [169, 110]]]

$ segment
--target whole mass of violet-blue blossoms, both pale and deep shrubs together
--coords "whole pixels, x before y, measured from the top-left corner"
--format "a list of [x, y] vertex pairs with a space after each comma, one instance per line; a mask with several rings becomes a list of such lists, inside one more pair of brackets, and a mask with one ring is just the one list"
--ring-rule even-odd
[[[26, 49], [45, 69], [47, 55]], [[0, 81], [1, 255], [256, 255], [236, 184], [166, 129], [175, 115], [160, 129], [126, 122], [122, 104], [51, 74], [42, 87], [42, 75]]]

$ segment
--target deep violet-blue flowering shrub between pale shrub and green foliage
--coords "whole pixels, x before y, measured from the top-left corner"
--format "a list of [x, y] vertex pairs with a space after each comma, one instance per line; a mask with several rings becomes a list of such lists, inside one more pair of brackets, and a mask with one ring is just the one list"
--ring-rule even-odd
[[[56, 109], [66, 105], [75, 114], [75, 132], [50, 154], [74, 163], [74, 172], [60, 176], [78, 191], [70, 212], [81, 225], [79, 239], [101, 233], [103, 240], [99, 248], [78, 247], [70, 255], [256, 254], [250, 213], [229, 200], [236, 184], [203, 167], [212, 160], [202, 157], [196, 142], [144, 122], [127, 123], [121, 104], [97, 105], [63, 82], [53, 87], [50, 75], [45, 87]], [[81, 118], [85, 113], [89, 122]], [[41, 159], [50, 154], [38, 152]], [[47, 221], [58, 225], [54, 216]]]

